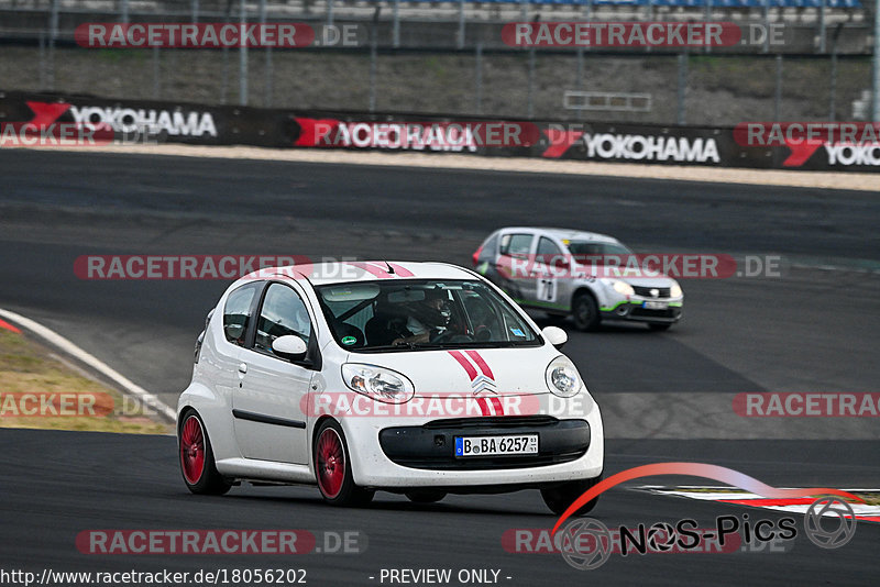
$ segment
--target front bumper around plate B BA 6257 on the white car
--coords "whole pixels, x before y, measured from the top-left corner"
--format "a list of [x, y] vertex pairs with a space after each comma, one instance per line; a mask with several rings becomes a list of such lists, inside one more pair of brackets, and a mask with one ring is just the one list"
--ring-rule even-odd
[[[341, 424], [358, 485], [397, 490], [437, 487], [448, 491], [458, 488], [462, 492], [503, 492], [602, 474], [602, 416], [592, 398], [584, 402], [584, 408], [582, 413], [570, 412], [559, 419], [542, 414], [381, 422], [342, 418]], [[537, 456], [454, 456], [457, 435], [520, 433], [539, 434]]]

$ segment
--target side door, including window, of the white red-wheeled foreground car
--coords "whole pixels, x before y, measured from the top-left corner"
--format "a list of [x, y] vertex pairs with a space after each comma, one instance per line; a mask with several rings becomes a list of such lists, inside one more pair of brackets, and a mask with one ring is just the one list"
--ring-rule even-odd
[[272, 342], [295, 334], [308, 345], [314, 320], [300, 291], [273, 281], [256, 313], [253, 343], [239, 355], [233, 389], [235, 438], [248, 458], [308, 463], [305, 400], [314, 370], [275, 354]]

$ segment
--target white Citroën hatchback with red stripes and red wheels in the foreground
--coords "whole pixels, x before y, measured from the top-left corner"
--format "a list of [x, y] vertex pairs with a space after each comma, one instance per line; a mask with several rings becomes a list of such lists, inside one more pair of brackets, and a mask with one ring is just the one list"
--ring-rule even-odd
[[196, 345], [177, 409], [184, 480], [196, 494], [310, 484], [336, 505], [377, 489], [428, 502], [537, 488], [561, 513], [604, 454], [564, 342], [453, 265], [256, 272], [223, 294]]

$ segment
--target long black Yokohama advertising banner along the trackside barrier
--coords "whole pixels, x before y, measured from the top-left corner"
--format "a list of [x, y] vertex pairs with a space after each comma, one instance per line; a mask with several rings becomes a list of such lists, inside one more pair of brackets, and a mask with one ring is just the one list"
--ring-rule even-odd
[[622, 164], [880, 170], [880, 126], [865, 122], [763, 121], [733, 128], [572, 123], [0, 91], [0, 148], [70, 142], [169, 142]]

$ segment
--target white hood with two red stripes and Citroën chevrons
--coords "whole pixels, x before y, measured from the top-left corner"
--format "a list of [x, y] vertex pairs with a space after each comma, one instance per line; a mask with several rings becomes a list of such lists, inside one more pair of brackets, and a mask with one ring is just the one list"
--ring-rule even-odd
[[560, 353], [550, 345], [522, 348], [350, 353], [350, 363], [406, 375], [417, 396], [521, 396], [549, 394], [544, 373]]

